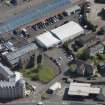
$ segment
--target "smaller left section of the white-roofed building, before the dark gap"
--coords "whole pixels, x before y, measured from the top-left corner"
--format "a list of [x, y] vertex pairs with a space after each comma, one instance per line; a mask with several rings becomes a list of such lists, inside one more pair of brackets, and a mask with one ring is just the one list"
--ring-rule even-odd
[[50, 32], [45, 32], [36, 37], [37, 43], [44, 48], [51, 48], [60, 43], [60, 40], [54, 37]]

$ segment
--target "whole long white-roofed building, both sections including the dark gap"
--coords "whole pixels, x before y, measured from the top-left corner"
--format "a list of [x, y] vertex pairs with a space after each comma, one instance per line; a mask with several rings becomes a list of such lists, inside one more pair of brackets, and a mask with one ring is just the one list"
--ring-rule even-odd
[[81, 34], [84, 34], [84, 29], [78, 23], [70, 21], [51, 30], [51, 32], [45, 32], [37, 36], [36, 41], [41, 47], [51, 48], [60, 43], [73, 40]]

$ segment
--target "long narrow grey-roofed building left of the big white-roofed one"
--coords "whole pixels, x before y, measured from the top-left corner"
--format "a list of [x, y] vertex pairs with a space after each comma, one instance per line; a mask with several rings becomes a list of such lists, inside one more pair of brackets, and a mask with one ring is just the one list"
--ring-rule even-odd
[[17, 66], [19, 63], [26, 66], [32, 57], [34, 57], [34, 64], [37, 64], [37, 46], [34, 43], [30, 43], [16, 51], [3, 55], [3, 59], [12, 67]]

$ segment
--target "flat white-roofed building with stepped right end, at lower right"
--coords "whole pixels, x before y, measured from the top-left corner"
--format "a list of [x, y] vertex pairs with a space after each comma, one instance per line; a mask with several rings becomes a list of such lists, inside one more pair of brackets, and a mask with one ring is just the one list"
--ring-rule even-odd
[[89, 96], [90, 94], [100, 94], [100, 88], [93, 87], [89, 83], [71, 82], [68, 95], [72, 96]]

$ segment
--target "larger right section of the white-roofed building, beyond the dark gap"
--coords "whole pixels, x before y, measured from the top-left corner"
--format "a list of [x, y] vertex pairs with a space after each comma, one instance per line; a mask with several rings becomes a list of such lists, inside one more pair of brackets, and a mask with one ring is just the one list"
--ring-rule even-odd
[[65, 42], [84, 34], [84, 30], [79, 24], [71, 21], [56, 29], [53, 29], [52, 33], [54, 33], [54, 35], [56, 35], [56, 37], [58, 37], [62, 42]]

